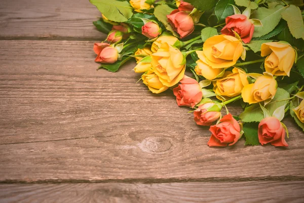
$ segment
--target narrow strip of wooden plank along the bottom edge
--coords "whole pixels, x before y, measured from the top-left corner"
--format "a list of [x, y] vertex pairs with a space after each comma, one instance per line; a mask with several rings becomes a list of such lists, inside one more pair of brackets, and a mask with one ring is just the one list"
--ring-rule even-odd
[[0, 202], [303, 202], [304, 182], [0, 185]]

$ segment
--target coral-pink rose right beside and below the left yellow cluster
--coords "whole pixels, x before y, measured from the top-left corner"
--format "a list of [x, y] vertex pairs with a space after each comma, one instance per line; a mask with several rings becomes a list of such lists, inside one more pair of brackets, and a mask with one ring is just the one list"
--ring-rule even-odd
[[181, 84], [173, 89], [177, 105], [194, 108], [200, 103], [203, 97], [199, 83], [188, 76], [184, 76], [179, 82]]

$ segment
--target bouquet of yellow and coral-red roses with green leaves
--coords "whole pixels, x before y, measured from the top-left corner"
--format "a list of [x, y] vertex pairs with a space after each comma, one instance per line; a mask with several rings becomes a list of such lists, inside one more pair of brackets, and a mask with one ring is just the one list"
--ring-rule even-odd
[[[108, 36], [94, 44], [100, 68], [135, 58], [153, 93], [173, 90], [210, 126], [209, 146], [284, 146], [291, 115], [304, 130], [303, 0], [90, 0]], [[185, 75], [187, 73], [188, 76]], [[244, 111], [232, 116], [226, 105]], [[221, 114], [222, 108], [226, 115]]]

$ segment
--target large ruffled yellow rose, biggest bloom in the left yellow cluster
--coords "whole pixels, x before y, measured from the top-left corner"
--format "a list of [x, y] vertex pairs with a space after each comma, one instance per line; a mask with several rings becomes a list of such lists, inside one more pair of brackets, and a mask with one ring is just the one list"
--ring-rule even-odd
[[186, 66], [182, 64], [182, 53], [167, 43], [151, 54], [153, 71], [167, 87], [177, 84], [184, 76]]

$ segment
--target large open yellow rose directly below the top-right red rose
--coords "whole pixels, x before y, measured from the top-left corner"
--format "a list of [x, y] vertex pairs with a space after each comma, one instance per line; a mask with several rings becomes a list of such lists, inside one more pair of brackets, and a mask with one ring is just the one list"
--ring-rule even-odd
[[208, 38], [203, 45], [203, 53], [207, 64], [213, 69], [233, 66], [243, 53], [240, 40], [227, 35]]

